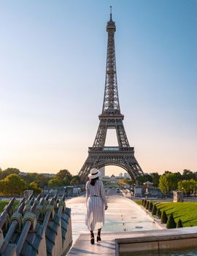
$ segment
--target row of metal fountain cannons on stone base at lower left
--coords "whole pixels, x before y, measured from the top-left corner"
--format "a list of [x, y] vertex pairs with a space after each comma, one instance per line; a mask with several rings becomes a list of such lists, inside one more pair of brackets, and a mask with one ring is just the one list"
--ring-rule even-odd
[[72, 222], [65, 195], [60, 201], [55, 195], [50, 202], [49, 195], [40, 197], [23, 198], [15, 208], [12, 198], [4, 209], [0, 215], [0, 255], [61, 256], [69, 250]]

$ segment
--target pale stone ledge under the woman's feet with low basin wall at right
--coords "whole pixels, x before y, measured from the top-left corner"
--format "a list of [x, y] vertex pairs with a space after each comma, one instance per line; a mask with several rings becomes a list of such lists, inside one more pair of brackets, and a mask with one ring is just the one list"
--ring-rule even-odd
[[[70, 250], [69, 256], [115, 256], [115, 250], [122, 253], [127, 252], [128, 255], [131, 249], [132, 252], [136, 252], [135, 255], [139, 255], [139, 252], [142, 251], [144, 252], [143, 255], [149, 256], [156, 255], [157, 252], [160, 252], [157, 255], [197, 255], [197, 227], [144, 230], [143, 232], [130, 233], [103, 233], [102, 238], [101, 244], [91, 245], [89, 234], [80, 235]], [[178, 251], [176, 252], [176, 250]]]

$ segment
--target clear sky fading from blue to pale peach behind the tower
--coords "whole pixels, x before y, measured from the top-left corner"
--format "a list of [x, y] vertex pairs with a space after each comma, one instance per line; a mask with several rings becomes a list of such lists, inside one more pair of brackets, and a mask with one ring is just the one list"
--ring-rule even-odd
[[110, 5], [139, 165], [197, 171], [196, 0], [0, 1], [1, 169], [82, 167], [103, 103]]

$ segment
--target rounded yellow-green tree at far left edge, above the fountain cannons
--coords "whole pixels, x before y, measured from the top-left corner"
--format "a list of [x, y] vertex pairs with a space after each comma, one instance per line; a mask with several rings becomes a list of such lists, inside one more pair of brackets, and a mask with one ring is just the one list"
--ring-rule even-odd
[[17, 174], [10, 174], [1, 180], [0, 187], [1, 195], [5, 196], [22, 195], [27, 188], [26, 181]]

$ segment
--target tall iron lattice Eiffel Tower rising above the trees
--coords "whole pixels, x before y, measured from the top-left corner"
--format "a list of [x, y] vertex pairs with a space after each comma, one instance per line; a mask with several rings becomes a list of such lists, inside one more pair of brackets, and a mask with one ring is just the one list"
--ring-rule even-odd
[[[112, 7], [110, 19], [107, 22], [107, 65], [104, 89], [104, 104], [99, 116], [100, 124], [93, 146], [88, 149], [88, 158], [82, 166], [79, 176], [85, 181], [90, 169], [100, 169], [106, 165], [117, 165], [125, 169], [132, 180], [143, 175], [142, 168], [134, 157], [134, 147], [130, 147], [123, 126], [124, 116], [120, 113], [120, 104], [117, 94], [117, 76], [115, 62], [115, 22], [112, 20]], [[104, 146], [107, 129], [115, 129], [118, 146]]]

